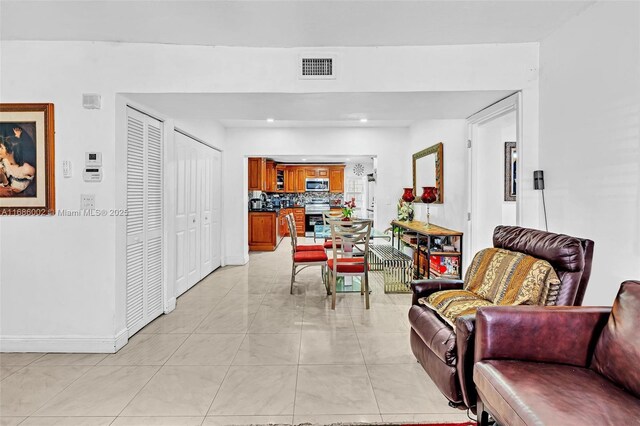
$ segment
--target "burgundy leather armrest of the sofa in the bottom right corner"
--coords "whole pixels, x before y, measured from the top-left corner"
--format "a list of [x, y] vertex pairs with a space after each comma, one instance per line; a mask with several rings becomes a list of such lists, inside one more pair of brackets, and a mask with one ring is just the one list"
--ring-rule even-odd
[[513, 359], [586, 367], [610, 312], [610, 307], [482, 307], [476, 314], [475, 362]]

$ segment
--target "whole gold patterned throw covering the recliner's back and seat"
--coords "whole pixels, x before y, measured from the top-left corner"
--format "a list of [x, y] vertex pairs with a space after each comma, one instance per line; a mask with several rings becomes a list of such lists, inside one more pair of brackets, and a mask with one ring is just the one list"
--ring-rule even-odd
[[482, 306], [552, 305], [560, 280], [546, 260], [488, 248], [479, 251], [464, 280], [464, 290], [444, 290], [419, 303], [436, 311], [455, 330], [456, 318]]

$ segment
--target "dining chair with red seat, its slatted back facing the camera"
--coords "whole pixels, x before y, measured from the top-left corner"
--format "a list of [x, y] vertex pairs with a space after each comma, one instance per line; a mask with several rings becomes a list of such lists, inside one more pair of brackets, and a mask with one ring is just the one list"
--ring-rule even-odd
[[[330, 222], [333, 256], [327, 260], [331, 283], [331, 309], [336, 309], [338, 277], [361, 277], [360, 294], [369, 309], [369, 239], [371, 220]], [[344, 279], [344, 278], [343, 278]]]

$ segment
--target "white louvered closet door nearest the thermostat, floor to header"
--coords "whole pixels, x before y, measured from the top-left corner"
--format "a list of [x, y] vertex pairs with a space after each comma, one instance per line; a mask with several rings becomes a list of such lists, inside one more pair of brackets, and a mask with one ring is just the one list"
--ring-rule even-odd
[[127, 109], [127, 300], [131, 336], [163, 311], [162, 123]]

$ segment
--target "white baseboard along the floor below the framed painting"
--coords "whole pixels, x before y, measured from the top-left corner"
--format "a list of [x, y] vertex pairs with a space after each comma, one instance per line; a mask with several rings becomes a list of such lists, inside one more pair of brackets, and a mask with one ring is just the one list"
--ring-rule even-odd
[[0, 352], [115, 353], [128, 340], [126, 329], [115, 336], [0, 336]]

